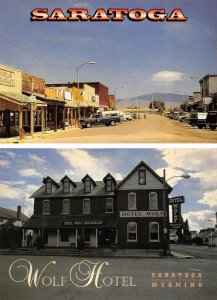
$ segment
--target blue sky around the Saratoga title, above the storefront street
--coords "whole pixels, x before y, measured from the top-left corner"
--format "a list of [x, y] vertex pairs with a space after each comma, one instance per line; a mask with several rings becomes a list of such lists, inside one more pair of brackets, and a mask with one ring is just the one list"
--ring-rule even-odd
[[[181, 8], [187, 22], [30, 22], [46, 7]], [[216, 0], [1, 0], [0, 63], [42, 76], [46, 82], [101, 81], [119, 98], [149, 92], [191, 94], [198, 78], [217, 69]], [[124, 87], [121, 89], [120, 87]]]

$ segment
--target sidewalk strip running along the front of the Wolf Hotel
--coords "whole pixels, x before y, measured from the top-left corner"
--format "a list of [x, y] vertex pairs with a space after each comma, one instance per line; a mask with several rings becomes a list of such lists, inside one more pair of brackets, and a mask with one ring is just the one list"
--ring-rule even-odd
[[172, 251], [170, 256], [163, 256], [160, 250], [145, 250], [145, 249], [36, 249], [36, 248], [17, 248], [0, 249], [0, 255], [33, 255], [33, 256], [79, 256], [79, 257], [111, 257], [111, 258], [177, 258], [186, 259], [193, 256]]

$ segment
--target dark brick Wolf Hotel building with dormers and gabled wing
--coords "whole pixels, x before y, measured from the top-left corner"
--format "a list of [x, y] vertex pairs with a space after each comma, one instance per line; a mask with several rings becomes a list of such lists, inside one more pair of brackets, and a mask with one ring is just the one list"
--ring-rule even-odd
[[81, 182], [65, 176], [57, 183], [47, 177], [32, 195], [34, 214], [23, 228], [47, 246], [78, 247], [82, 240], [88, 247], [161, 249], [171, 190], [144, 162], [119, 182], [109, 173], [102, 181], [86, 175]]

